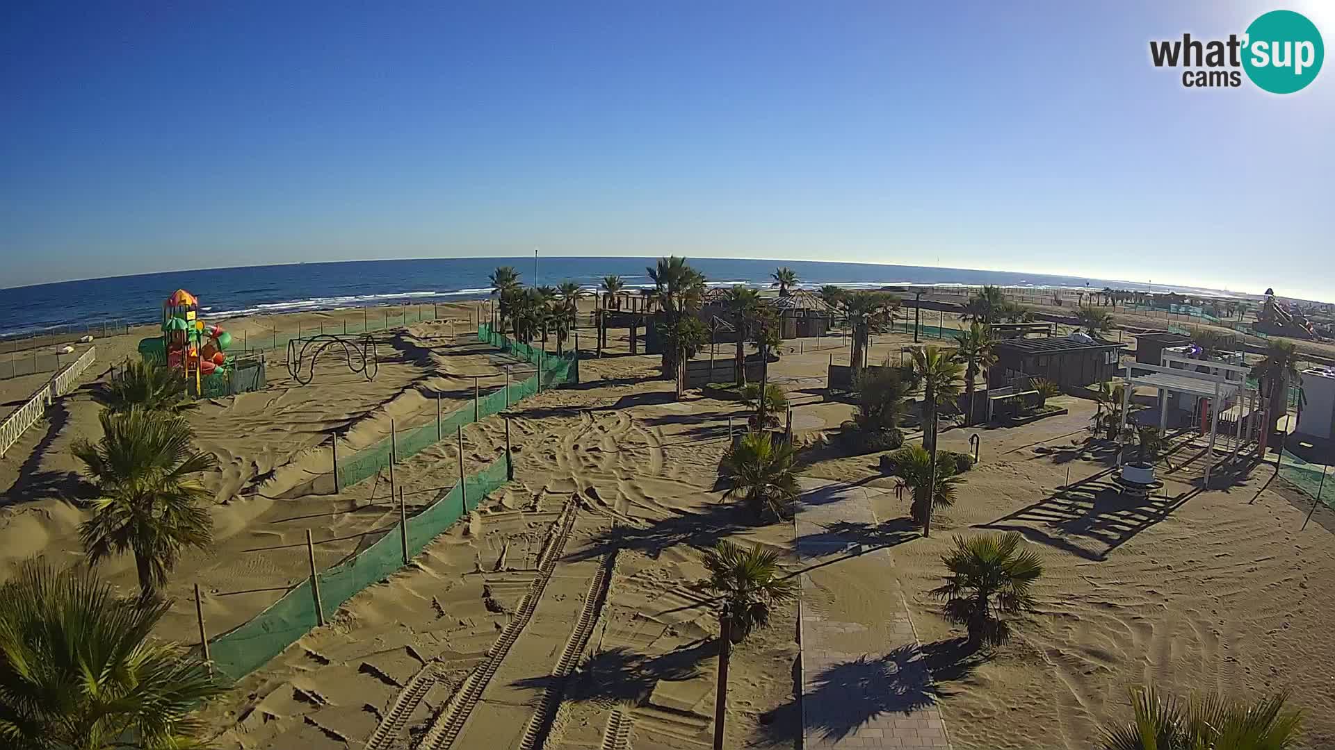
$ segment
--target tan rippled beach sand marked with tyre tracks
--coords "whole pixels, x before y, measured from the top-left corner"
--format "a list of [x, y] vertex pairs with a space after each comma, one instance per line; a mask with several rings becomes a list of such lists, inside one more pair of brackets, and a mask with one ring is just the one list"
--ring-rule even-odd
[[[220, 464], [206, 478], [216, 543], [182, 559], [158, 635], [198, 642], [196, 583], [210, 634], [254, 617], [307, 575], [307, 530], [324, 569], [396, 520], [387, 478], [332, 492], [328, 434], [346, 431], [339, 450], [355, 451], [387, 436], [391, 419], [395, 430], [430, 423], [437, 399], [446, 411], [471, 403], [474, 376], [483, 395], [503, 383], [514, 360], [463, 334], [475, 311], [457, 304], [439, 314], [441, 322], [372, 334], [382, 359], [374, 380], [330, 355], [300, 386], [284, 352], [274, 351], [267, 390], [188, 412], [200, 447]], [[339, 318], [304, 314], [300, 324], [319, 327], [322, 319], [332, 327]], [[227, 326], [254, 342], [295, 320], [256, 316]], [[83, 384], [0, 460], [0, 575], [33, 554], [80, 559], [84, 511], [68, 500], [85, 498], [88, 487], [69, 446], [96, 439], [91, 386], [142, 335], [99, 339], [97, 364]], [[582, 331], [582, 348], [593, 339]], [[870, 359], [897, 358], [910, 342], [878, 335]], [[893, 488], [876, 454], [849, 456], [832, 440], [853, 412], [824, 395], [830, 355], [846, 356], [840, 338], [785, 347], [796, 351], [785, 351], [770, 378], [796, 407], [808, 476]], [[732, 346], [724, 350], [718, 356], [730, 356]], [[718, 625], [696, 587], [705, 575], [700, 551], [720, 539], [760, 543], [778, 550], [796, 574], [802, 562], [794, 530], [757, 526], [721, 496], [718, 462], [729, 418], [745, 419], [742, 404], [700, 392], [674, 400], [672, 383], [658, 379], [658, 358], [626, 352], [626, 331], [611, 331], [602, 359], [587, 354], [579, 386], [507, 412], [513, 483], [207, 709], [219, 746], [538, 741], [575, 750], [615, 747], [607, 738], [617, 733], [638, 750], [709, 745]], [[5, 403], [36, 387], [17, 380], [0, 383]], [[1304, 710], [1302, 746], [1335, 745], [1335, 645], [1327, 638], [1335, 594], [1323, 583], [1335, 577], [1335, 514], [1318, 510], [1299, 532], [1308, 506], [1271, 479], [1268, 466], [1231, 476], [1224, 490], [1200, 491], [1204, 456], [1191, 444], [1169, 456], [1176, 468], [1165, 498], [1125, 499], [1109, 488], [1109, 456], [1084, 450], [1093, 404], [1055, 400], [1069, 414], [943, 432], [951, 450], [965, 451], [975, 434], [983, 442], [955, 507], [939, 515], [930, 538], [872, 542], [888, 546], [892, 560], [893, 579], [878, 585], [906, 602], [924, 647], [963, 635], [928, 594], [941, 582], [940, 556], [953, 534], [1013, 528], [1043, 555], [1040, 606], [1016, 623], [1016, 638], [933, 675], [953, 746], [1089, 747], [1100, 726], [1128, 717], [1127, 687], [1147, 681], [1173, 693], [1232, 697], [1288, 689]], [[463, 428], [467, 472], [503, 450], [503, 416]], [[458, 460], [455, 440], [445, 439], [395, 467], [410, 514], [455, 482]], [[1063, 490], [1068, 471], [1072, 486]], [[877, 520], [906, 515], [893, 492], [876, 496]], [[128, 558], [99, 571], [125, 591], [135, 586]], [[865, 577], [884, 575], [857, 556], [821, 571], [830, 595], [852, 595]], [[868, 606], [885, 606], [890, 617], [880, 599]], [[737, 649], [728, 747], [797, 746], [800, 649], [796, 605]]]

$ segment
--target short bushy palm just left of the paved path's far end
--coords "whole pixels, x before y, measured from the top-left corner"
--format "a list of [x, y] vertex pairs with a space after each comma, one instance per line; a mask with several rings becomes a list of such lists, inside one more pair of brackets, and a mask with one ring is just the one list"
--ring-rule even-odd
[[724, 454], [724, 474], [736, 495], [752, 506], [757, 518], [772, 512], [792, 518], [790, 506], [801, 490], [797, 486], [797, 451], [784, 440], [773, 440], [764, 430], [746, 432]]

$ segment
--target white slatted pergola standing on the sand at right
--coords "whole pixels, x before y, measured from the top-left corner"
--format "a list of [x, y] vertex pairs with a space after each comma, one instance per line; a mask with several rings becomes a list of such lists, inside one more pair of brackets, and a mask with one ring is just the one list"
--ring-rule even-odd
[[[1188, 363], [1189, 370], [1180, 367], [1168, 367], [1172, 360], [1181, 360]], [[1123, 430], [1127, 428], [1127, 412], [1131, 406], [1131, 392], [1136, 387], [1149, 387], [1156, 388], [1159, 392], [1159, 430], [1168, 427], [1168, 392], [1176, 391], [1179, 394], [1188, 394], [1192, 396], [1210, 399], [1210, 448], [1206, 463], [1206, 482], [1210, 482], [1210, 471], [1215, 466], [1215, 435], [1219, 428], [1219, 411], [1220, 407], [1231, 398], [1246, 392], [1250, 398], [1255, 398], [1255, 391], [1250, 391], [1246, 387], [1246, 372], [1250, 370], [1247, 367], [1239, 367], [1235, 364], [1223, 364], [1219, 362], [1208, 362], [1200, 359], [1191, 359], [1184, 356], [1168, 355], [1163, 356], [1163, 366], [1157, 364], [1141, 364], [1139, 362], [1127, 363], [1125, 375], [1123, 376], [1125, 387], [1121, 394], [1121, 426], [1117, 430], [1120, 435]], [[1206, 366], [1215, 372], [1197, 372], [1195, 368], [1197, 366]], [[1141, 372], [1137, 375], [1136, 372]], [[1243, 376], [1238, 379], [1230, 379], [1227, 372], [1242, 372]], [[1248, 407], [1251, 410], [1251, 406]], [[1238, 419], [1238, 439], [1242, 440], [1243, 435], [1243, 419], [1239, 414]], [[1121, 454], [1117, 454], [1117, 464], [1121, 464]]]

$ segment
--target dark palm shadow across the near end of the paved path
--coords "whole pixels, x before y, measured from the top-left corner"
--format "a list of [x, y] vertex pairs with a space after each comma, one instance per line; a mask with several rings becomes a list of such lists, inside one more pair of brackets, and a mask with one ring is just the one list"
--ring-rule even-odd
[[[909, 715], [934, 706], [952, 693], [943, 683], [969, 679], [984, 654], [965, 638], [900, 646], [878, 658], [858, 657], [820, 670], [801, 691], [801, 721], [784, 721], [798, 703], [761, 717], [765, 745], [793, 746], [806, 733], [812, 741], [840, 741], [869, 722], [893, 714]], [[766, 721], [768, 719], [768, 721]]]

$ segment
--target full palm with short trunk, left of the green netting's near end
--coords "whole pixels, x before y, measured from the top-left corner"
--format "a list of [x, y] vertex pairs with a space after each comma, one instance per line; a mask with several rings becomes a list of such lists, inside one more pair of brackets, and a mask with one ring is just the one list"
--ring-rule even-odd
[[195, 450], [195, 434], [179, 416], [103, 411], [101, 430], [96, 444], [73, 444], [100, 494], [79, 538], [89, 565], [134, 552], [139, 589], [150, 598], [167, 582], [182, 548], [203, 548], [214, 539], [212, 520], [199, 504], [210, 491], [194, 475], [216, 462]]

